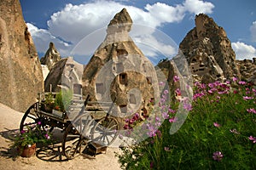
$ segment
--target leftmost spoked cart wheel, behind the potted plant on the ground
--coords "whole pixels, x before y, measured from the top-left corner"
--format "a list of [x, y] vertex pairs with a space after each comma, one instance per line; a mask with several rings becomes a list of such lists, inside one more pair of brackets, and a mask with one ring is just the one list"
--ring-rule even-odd
[[38, 122], [40, 123], [40, 127], [45, 131], [51, 132], [54, 127], [50, 127], [47, 122], [49, 122], [49, 118], [46, 116], [42, 116], [39, 112], [39, 103], [35, 103], [31, 105], [28, 110], [26, 110], [24, 116], [20, 122], [20, 132], [22, 130], [27, 130], [26, 126], [31, 128], [35, 127]]

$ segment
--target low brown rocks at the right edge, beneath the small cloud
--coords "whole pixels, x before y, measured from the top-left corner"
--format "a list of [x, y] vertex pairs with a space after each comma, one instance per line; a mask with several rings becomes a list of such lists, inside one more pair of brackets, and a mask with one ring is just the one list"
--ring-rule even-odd
[[256, 85], [256, 58], [236, 60], [236, 65], [241, 72], [241, 79]]

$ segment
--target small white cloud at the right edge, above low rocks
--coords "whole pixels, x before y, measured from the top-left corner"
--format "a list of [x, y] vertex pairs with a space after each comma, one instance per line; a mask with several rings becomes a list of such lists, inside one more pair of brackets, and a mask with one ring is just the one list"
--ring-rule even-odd
[[236, 59], [253, 59], [256, 57], [256, 48], [244, 42], [232, 42], [232, 48], [236, 53]]

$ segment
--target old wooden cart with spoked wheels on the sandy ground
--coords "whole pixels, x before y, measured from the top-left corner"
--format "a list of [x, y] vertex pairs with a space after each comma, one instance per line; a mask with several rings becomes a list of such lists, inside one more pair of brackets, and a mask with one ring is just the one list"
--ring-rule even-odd
[[95, 149], [95, 154], [97, 149], [106, 150], [117, 138], [119, 122], [110, 115], [113, 102], [90, 101], [89, 95], [83, 100], [82, 95], [73, 94], [67, 111], [44, 111], [42, 105], [48, 94], [38, 94], [38, 102], [31, 105], [21, 119], [20, 131], [26, 130], [26, 125], [34, 126], [38, 122], [44, 130], [61, 128], [64, 131], [61, 148], [67, 159], [73, 159], [89, 146]]

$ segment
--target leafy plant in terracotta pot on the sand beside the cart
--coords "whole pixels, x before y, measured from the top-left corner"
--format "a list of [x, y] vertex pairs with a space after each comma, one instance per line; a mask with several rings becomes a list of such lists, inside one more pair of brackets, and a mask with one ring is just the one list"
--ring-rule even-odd
[[[29, 123], [28, 123], [29, 124]], [[16, 148], [20, 156], [30, 157], [36, 153], [36, 144], [52, 143], [52, 134], [41, 129], [41, 122], [34, 126], [26, 125], [26, 130], [15, 135], [12, 148]]]

